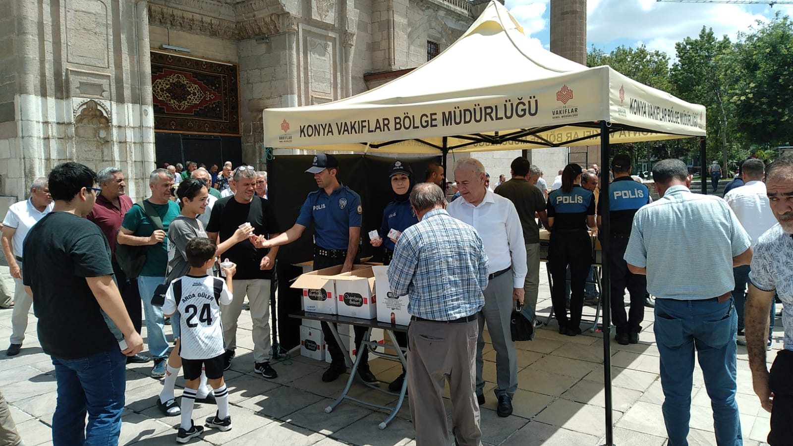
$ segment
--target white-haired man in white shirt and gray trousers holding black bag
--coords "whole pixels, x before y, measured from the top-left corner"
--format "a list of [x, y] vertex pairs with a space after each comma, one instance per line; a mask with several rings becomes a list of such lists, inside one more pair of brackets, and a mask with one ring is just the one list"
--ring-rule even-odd
[[477, 229], [490, 260], [489, 283], [484, 290], [485, 307], [478, 313], [477, 401], [480, 405], [485, 403], [485, 379], [482, 377], [485, 338], [482, 331], [487, 322], [496, 350], [496, 412], [499, 417], [508, 417], [512, 413], [512, 397], [518, 388], [515, 344], [510, 331], [512, 301], [523, 303], [523, 282], [527, 274], [523, 226], [515, 205], [487, 189], [485, 167], [479, 160], [459, 160], [454, 165], [454, 179], [463, 199], [451, 202], [446, 211]]

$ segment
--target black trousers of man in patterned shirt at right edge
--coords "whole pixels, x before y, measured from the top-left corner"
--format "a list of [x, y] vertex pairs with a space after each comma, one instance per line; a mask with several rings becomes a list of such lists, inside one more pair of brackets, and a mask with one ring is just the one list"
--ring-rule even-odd
[[793, 437], [793, 352], [782, 350], [776, 354], [768, 378], [768, 388], [774, 394], [771, 409], [771, 432], [768, 444], [782, 446], [791, 444]]

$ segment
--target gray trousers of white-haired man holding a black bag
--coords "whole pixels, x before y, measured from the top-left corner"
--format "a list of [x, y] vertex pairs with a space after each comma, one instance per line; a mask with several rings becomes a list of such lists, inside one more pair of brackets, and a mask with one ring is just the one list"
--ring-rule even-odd
[[485, 306], [479, 312], [479, 339], [477, 340], [477, 394], [483, 394], [485, 379], [482, 377], [482, 349], [485, 337], [482, 333], [485, 322], [493, 349], [496, 350], [496, 397], [507, 395], [509, 398], [518, 390], [518, 362], [515, 357], [515, 343], [509, 329], [514, 303], [512, 301], [512, 270], [492, 279], [485, 288]]

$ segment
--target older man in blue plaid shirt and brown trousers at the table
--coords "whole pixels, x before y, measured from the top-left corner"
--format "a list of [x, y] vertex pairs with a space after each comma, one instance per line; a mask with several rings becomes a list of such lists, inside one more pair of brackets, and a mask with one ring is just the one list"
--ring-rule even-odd
[[419, 223], [405, 229], [389, 265], [391, 290], [408, 294], [408, 392], [416, 444], [446, 444], [444, 380], [449, 379], [452, 431], [460, 446], [481, 444], [475, 394], [478, 323], [485, 306], [488, 256], [472, 226], [446, 213], [433, 183], [413, 187]]

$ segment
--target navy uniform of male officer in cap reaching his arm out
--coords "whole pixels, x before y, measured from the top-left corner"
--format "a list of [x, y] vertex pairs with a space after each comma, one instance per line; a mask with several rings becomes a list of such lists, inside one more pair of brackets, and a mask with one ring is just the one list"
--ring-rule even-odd
[[[361, 227], [361, 196], [347, 186], [340, 185], [330, 195], [323, 189], [308, 194], [303, 203], [297, 224], [308, 227], [314, 221], [314, 271], [342, 265], [347, 259], [350, 228]], [[357, 258], [357, 257], [356, 257]], [[366, 328], [355, 325], [355, 348], [361, 351], [361, 340]], [[322, 322], [322, 332], [328, 344], [331, 360], [337, 367], [344, 365], [344, 353], [336, 342], [327, 322]], [[369, 367], [369, 352], [361, 354], [361, 370]]]

